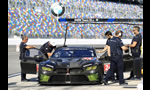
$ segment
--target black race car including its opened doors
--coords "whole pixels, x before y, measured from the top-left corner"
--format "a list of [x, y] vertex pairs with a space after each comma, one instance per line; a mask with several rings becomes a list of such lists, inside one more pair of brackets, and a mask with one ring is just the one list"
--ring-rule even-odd
[[[133, 58], [124, 54], [123, 61], [124, 71], [131, 71]], [[49, 59], [39, 49], [28, 49], [22, 64], [22, 72], [38, 72], [39, 84], [95, 84], [101, 83], [110, 61], [106, 52], [98, 57], [93, 47], [58, 47]]]

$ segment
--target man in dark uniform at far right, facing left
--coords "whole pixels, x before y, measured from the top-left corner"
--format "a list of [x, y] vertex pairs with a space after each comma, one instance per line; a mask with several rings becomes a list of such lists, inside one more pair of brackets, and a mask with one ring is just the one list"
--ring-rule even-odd
[[142, 46], [142, 36], [139, 33], [140, 27], [139, 26], [134, 26], [133, 27], [133, 33], [135, 36], [132, 39], [131, 44], [127, 45], [131, 48], [131, 53], [134, 58], [133, 62], [133, 71], [130, 73], [130, 77], [127, 78], [129, 79], [141, 79], [141, 46]]

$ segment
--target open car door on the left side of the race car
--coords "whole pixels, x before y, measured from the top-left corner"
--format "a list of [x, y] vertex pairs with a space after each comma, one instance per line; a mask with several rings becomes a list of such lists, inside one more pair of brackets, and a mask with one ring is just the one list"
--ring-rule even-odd
[[21, 70], [23, 73], [36, 74], [37, 64], [47, 60], [47, 57], [37, 48], [28, 49], [24, 54], [24, 60], [21, 61]]

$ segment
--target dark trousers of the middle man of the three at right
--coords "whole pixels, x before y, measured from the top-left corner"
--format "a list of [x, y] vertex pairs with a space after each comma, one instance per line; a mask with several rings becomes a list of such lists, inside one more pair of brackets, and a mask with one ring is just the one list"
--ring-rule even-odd
[[119, 77], [119, 83], [124, 83], [123, 77], [123, 58], [122, 56], [111, 56], [110, 71], [106, 74], [105, 81], [108, 81], [114, 74], [114, 70], [117, 69]]

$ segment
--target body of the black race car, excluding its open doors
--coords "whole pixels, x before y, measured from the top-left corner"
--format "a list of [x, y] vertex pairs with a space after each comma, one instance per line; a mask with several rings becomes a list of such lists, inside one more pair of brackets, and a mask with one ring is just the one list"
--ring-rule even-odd
[[39, 84], [95, 84], [103, 79], [103, 63], [94, 48], [61, 47], [39, 64]]

